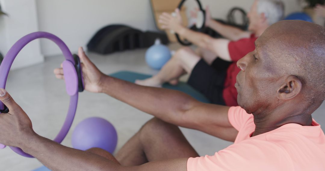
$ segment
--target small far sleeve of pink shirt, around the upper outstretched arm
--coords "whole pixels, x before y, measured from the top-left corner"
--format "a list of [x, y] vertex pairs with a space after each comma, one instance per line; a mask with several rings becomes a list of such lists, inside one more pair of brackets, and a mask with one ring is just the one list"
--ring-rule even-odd
[[232, 106], [228, 110], [228, 120], [237, 131], [252, 117], [253, 115], [246, 113], [240, 106]]

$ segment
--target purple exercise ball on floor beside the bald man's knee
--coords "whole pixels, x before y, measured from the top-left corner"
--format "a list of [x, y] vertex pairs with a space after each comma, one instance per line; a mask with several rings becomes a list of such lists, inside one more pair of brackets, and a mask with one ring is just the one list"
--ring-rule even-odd
[[117, 133], [114, 126], [107, 120], [91, 117], [81, 121], [72, 133], [72, 147], [88, 150], [98, 147], [111, 154], [117, 144]]

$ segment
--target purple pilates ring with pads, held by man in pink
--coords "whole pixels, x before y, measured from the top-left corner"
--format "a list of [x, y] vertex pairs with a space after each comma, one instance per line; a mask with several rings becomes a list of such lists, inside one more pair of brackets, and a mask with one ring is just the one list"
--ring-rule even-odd
[[[10, 48], [10, 50], [8, 51], [8, 53], [6, 54], [4, 60], [2, 61], [1, 65], [0, 65], [0, 88], [6, 88], [6, 81], [7, 81], [10, 67], [11, 67], [12, 63], [14, 62], [14, 59], [16, 58], [19, 51], [25, 45], [27, 45], [29, 42], [31, 42], [32, 40], [38, 39], [38, 38], [46, 38], [46, 39], [49, 39], [49, 40], [52, 40], [53, 42], [55, 42], [61, 49], [61, 51], [66, 59], [62, 63], [62, 65], [63, 65], [64, 80], [65, 80], [65, 84], [66, 84], [66, 91], [67, 91], [68, 95], [70, 96], [70, 105], [69, 105], [68, 114], [67, 114], [67, 117], [63, 123], [63, 126], [62, 126], [61, 130], [59, 131], [58, 135], [53, 140], [57, 143], [61, 143], [71, 127], [71, 124], [72, 124], [72, 121], [73, 121], [73, 118], [74, 118], [74, 115], [75, 115], [75, 112], [77, 109], [78, 90], [83, 91], [83, 89], [84, 89], [79, 58], [76, 59], [72, 56], [67, 45], [62, 40], [60, 40], [57, 36], [47, 33], [47, 32], [34, 32], [34, 33], [28, 34], [28, 35], [22, 37], [21, 39], [19, 39]], [[8, 108], [2, 102], [0, 102], [0, 112], [1, 113], [9, 112]], [[3, 144], [0, 144], [0, 146], [1, 146], [1, 148], [6, 147]], [[32, 155], [23, 152], [18, 147], [10, 147], [10, 148], [17, 154], [20, 154], [25, 157], [33, 158]]]

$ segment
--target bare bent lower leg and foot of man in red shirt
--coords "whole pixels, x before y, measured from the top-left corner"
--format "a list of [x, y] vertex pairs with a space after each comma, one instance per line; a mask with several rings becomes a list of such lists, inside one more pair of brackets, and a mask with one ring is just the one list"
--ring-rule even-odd
[[136, 84], [145, 86], [161, 87], [163, 83], [178, 83], [178, 79], [185, 73], [191, 73], [194, 66], [200, 61], [192, 49], [184, 47], [175, 52], [175, 55], [161, 69], [161, 71], [148, 79], [136, 80]]

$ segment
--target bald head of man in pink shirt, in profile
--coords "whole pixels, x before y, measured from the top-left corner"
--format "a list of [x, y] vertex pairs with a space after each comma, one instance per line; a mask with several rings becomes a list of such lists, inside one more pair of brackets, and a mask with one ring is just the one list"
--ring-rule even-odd
[[[325, 99], [325, 28], [298, 20], [273, 24], [238, 61], [238, 103], [246, 111], [297, 105], [311, 114]], [[250, 101], [247, 99], [251, 98]]]

